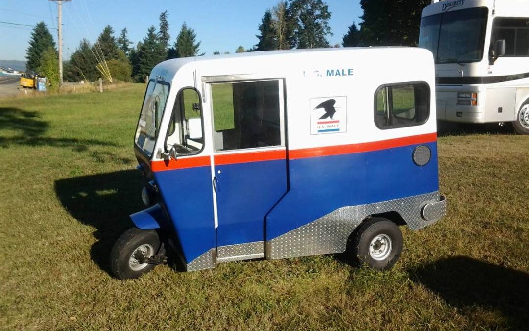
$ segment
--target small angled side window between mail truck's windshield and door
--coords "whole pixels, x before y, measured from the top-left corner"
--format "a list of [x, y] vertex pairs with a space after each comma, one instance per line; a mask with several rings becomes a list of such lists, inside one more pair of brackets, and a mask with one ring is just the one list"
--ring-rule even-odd
[[202, 150], [202, 105], [200, 96], [193, 88], [178, 93], [169, 124], [166, 149], [177, 154], [194, 154]]

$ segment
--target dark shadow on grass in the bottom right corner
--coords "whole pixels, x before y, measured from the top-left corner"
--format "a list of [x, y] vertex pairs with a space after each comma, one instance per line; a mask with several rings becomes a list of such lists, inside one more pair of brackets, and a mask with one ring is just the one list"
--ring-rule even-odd
[[463, 315], [482, 308], [501, 312], [509, 328], [529, 325], [528, 273], [466, 256], [444, 258], [408, 273]]

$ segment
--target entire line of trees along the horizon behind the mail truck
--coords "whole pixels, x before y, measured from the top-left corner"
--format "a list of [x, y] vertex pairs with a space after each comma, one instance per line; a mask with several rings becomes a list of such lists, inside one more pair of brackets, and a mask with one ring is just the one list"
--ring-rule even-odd
[[[361, 0], [362, 22], [357, 26], [352, 20], [342, 43], [333, 47], [416, 46], [421, 11], [429, 3], [430, 0]], [[185, 22], [171, 44], [168, 17], [167, 11], [161, 13], [158, 30], [152, 25], [135, 47], [126, 28], [116, 38], [110, 25], [103, 29], [94, 44], [87, 39], [81, 40], [63, 64], [64, 79], [93, 82], [102, 77], [111, 82], [144, 82], [151, 69], [163, 60], [204, 55], [199, 51], [196, 32]], [[257, 44], [248, 49], [239, 46], [235, 52], [330, 47], [327, 40], [327, 36], [332, 35], [330, 18], [331, 12], [323, 0], [280, 1], [262, 16]], [[48, 77], [50, 84], [56, 86], [57, 57], [52, 35], [44, 22], [38, 23], [27, 50], [27, 69]]]

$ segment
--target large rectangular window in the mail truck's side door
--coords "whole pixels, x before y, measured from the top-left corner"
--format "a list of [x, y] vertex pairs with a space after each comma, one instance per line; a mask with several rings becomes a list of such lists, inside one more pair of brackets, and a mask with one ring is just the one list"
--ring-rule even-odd
[[281, 145], [279, 82], [211, 85], [216, 151]]

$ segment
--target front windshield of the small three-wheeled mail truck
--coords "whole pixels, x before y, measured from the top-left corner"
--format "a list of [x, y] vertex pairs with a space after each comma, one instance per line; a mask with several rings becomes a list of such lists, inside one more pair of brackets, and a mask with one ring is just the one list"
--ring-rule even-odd
[[149, 157], [154, 151], [154, 142], [168, 94], [169, 85], [166, 83], [156, 83], [151, 80], [147, 85], [134, 142]]

